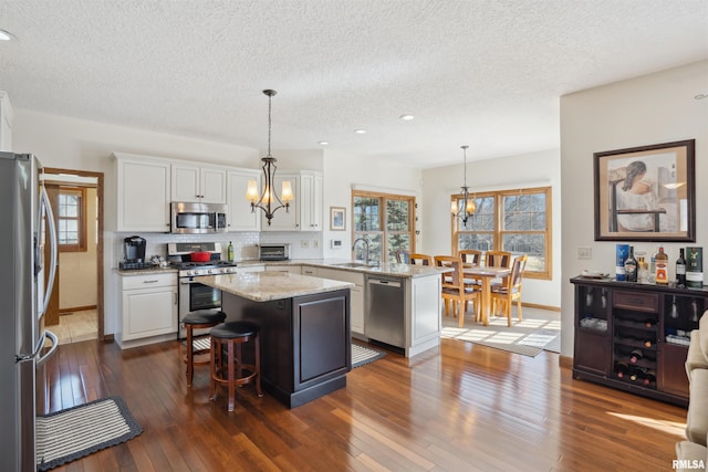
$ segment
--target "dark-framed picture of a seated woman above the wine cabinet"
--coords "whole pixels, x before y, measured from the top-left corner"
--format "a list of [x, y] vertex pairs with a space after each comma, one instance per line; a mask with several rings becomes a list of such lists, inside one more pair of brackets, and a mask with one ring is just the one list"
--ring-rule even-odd
[[696, 241], [696, 140], [595, 153], [595, 241]]

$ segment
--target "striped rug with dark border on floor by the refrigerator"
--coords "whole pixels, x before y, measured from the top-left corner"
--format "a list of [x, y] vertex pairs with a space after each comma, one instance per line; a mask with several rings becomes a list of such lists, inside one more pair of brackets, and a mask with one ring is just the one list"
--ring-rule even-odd
[[46, 471], [143, 432], [119, 397], [108, 397], [37, 418], [37, 469]]

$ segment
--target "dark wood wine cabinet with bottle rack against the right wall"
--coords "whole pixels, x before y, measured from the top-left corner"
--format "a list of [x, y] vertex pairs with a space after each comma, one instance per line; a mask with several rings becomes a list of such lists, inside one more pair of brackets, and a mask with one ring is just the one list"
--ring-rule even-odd
[[571, 283], [573, 377], [687, 407], [686, 355], [708, 291], [582, 276]]

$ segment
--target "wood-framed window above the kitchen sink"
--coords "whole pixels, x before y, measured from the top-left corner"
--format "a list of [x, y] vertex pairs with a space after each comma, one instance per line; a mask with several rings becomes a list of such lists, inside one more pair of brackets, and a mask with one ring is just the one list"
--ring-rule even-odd
[[[353, 241], [357, 238], [368, 241], [369, 262], [395, 261], [398, 249], [415, 252], [414, 197], [353, 191], [352, 199]], [[365, 245], [357, 243], [353, 259], [363, 260], [364, 251]]]

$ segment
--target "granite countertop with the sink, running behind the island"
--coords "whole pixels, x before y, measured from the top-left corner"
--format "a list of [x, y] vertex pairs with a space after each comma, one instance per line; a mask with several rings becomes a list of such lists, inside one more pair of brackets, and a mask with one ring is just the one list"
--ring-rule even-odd
[[[239, 266], [249, 265], [309, 265], [312, 268], [336, 269], [348, 272], [364, 272], [375, 275], [392, 275], [397, 277], [421, 277], [429, 275], [439, 275], [446, 272], [451, 272], [451, 269], [435, 268], [428, 265], [409, 265], [398, 263], [384, 263], [376, 266], [356, 266], [350, 268], [341, 264], [348, 264], [353, 261], [346, 259], [291, 259], [289, 261], [257, 261], [246, 260], [239, 261]], [[363, 265], [363, 264], [362, 264]]]

